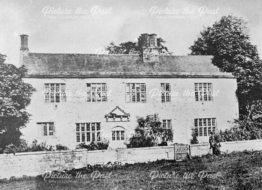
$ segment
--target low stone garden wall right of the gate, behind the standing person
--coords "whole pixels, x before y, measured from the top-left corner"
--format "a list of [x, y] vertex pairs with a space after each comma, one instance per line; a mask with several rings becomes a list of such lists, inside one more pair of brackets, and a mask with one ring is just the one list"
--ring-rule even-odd
[[[262, 150], [262, 139], [248, 140], [248, 141], [232, 141], [221, 142], [220, 150], [222, 152], [233, 152], [243, 150]], [[205, 154], [212, 154], [212, 149], [209, 149], [209, 143], [190, 144], [190, 155], [201, 156]]]

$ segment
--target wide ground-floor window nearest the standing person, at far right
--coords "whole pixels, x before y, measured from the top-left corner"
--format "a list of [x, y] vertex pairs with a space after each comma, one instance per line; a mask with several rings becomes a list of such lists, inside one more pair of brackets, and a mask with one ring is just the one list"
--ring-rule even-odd
[[195, 119], [196, 136], [209, 136], [216, 132], [216, 118]]

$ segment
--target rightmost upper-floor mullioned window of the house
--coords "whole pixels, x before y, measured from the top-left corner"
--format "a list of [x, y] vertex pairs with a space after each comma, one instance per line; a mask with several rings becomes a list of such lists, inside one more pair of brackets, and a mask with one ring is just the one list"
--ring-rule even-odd
[[195, 83], [195, 100], [212, 101], [212, 83]]

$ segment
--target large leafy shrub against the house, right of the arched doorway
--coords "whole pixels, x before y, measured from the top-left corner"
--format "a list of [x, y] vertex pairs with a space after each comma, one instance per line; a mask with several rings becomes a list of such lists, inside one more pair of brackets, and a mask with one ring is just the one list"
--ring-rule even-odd
[[[137, 117], [137, 127], [129, 139], [128, 148], [152, 147], [173, 140], [172, 129], [164, 128], [158, 114]], [[157, 138], [160, 137], [158, 142]]]

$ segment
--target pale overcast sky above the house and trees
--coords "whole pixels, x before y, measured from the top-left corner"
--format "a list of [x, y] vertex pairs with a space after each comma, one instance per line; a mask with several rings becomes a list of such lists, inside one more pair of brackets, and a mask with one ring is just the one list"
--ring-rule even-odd
[[[55, 14], [53, 12], [52, 14], [50, 8], [53, 10], [60, 8], [64, 11], [67, 9], [72, 13]], [[76, 14], [78, 8], [86, 10], [86, 14], [84, 12]], [[185, 8], [194, 10], [193, 14], [183, 14]], [[176, 14], [158, 14], [162, 9], [176, 12]], [[208, 11], [210, 9], [215, 14], [207, 14], [211, 12]], [[203, 30], [203, 26], [211, 26], [222, 16], [232, 13], [234, 16], [249, 21], [250, 40], [258, 47], [261, 57], [261, 10], [261, 0], [1, 0], [0, 53], [7, 54], [8, 63], [19, 65], [19, 35], [21, 34], [29, 35], [30, 52], [95, 53], [97, 48], [106, 47], [111, 41], [116, 44], [135, 42], [142, 33], [156, 33], [157, 37], [162, 37], [167, 41], [166, 46], [173, 55], [187, 55], [190, 53], [188, 48]], [[54, 16], [70, 16], [71, 18], [54, 18]]]

